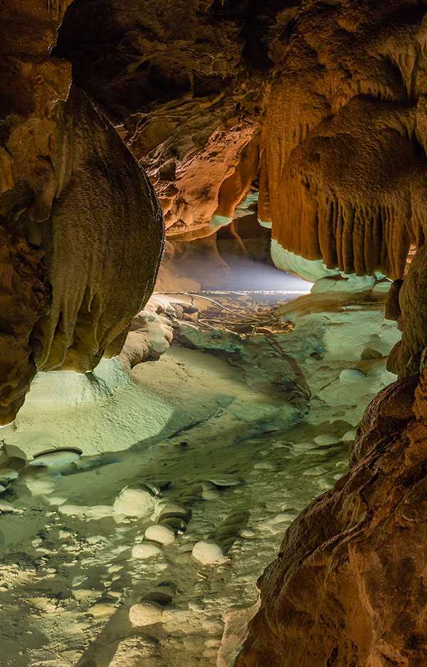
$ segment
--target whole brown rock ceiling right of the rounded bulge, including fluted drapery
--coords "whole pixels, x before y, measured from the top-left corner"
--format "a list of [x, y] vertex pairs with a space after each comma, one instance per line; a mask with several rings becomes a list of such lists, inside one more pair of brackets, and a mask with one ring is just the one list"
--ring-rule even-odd
[[283, 248], [401, 278], [425, 236], [425, 11], [75, 0], [56, 53], [147, 168], [176, 241], [214, 234], [252, 183]]

